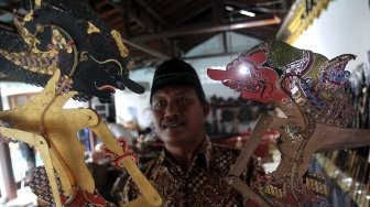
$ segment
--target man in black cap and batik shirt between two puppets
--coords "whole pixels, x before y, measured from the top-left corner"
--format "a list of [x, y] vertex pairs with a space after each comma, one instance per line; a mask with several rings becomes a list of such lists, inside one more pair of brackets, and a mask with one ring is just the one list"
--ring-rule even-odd
[[[195, 69], [175, 58], [162, 63], [154, 73], [150, 102], [164, 149], [143, 173], [162, 195], [163, 205], [243, 206], [242, 196], [225, 182], [240, 151], [207, 138], [209, 103]], [[249, 183], [262, 172], [255, 162], [248, 168], [243, 176]], [[140, 194], [131, 179], [118, 181], [112, 193], [120, 203]]]

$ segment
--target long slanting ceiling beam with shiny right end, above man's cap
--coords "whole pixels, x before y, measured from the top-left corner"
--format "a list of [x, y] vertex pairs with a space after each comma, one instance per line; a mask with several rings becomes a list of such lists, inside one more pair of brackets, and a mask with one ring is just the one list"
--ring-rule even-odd
[[135, 36], [135, 37], [130, 39], [130, 41], [138, 43], [138, 42], [145, 42], [149, 40], [164, 39], [164, 37], [170, 37], [170, 36], [184, 36], [184, 35], [192, 35], [192, 34], [224, 32], [224, 31], [231, 31], [231, 30], [246, 29], [246, 28], [257, 28], [257, 26], [263, 26], [263, 25], [269, 25], [269, 24], [279, 24], [280, 22], [281, 22], [280, 18], [273, 17], [271, 19], [254, 20], [254, 21], [248, 21], [248, 22], [233, 22], [230, 24], [222, 24], [222, 25], [215, 25], [214, 23], [193, 24], [193, 25], [186, 25], [183, 28], [174, 29], [174, 30], [168, 30], [165, 32]]

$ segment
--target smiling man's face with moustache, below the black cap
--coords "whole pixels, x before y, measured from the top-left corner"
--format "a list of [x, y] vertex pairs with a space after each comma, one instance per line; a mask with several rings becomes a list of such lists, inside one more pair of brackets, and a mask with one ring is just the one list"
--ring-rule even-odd
[[152, 97], [154, 126], [165, 145], [197, 144], [205, 135], [208, 105], [189, 87], [164, 87]]

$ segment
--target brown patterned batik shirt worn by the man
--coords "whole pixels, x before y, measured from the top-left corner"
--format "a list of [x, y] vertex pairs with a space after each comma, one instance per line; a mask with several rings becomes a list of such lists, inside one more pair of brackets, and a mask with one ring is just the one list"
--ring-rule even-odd
[[[239, 150], [205, 139], [187, 172], [163, 150], [159, 159], [145, 164], [143, 173], [162, 195], [163, 206], [244, 206], [247, 200], [225, 179], [239, 153]], [[250, 186], [251, 181], [263, 171], [255, 159], [251, 159], [248, 165], [242, 178]], [[140, 195], [132, 179], [123, 176], [116, 182], [112, 194], [120, 204]]]

